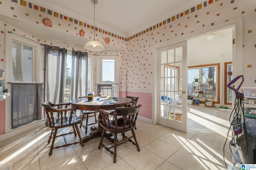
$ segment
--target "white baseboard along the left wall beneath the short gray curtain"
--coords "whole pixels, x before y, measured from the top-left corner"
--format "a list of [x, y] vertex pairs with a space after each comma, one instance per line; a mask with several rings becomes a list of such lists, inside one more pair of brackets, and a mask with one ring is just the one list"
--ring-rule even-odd
[[25, 131], [29, 131], [31, 129], [35, 129], [36, 127], [44, 125], [44, 119], [34, 121], [32, 123], [29, 123], [27, 125], [23, 125], [21, 127], [17, 127], [15, 129], [10, 129], [8, 131], [4, 131], [3, 135], [0, 135], [0, 141], [3, 141], [5, 139], [8, 139], [10, 137], [14, 137], [15, 135], [18, 135], [20, 133], [23, 133]]

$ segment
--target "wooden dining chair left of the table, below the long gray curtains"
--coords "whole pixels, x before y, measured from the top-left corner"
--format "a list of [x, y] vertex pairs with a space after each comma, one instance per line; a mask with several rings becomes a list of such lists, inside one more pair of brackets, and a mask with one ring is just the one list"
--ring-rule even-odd
[[[50, 143], [52, 139], [52, 145], [50, 147], [49, 156], [52, 155], [53, 149], [58, 149], [61, 147], [68, 147], [70, 145], [76, 145], [77, 143], [80, 143], [80, 145], [83, 147], [84, 143], [80, 135], [80, 131], [78, 129], [78, 124], [81, 123], [81, 119], [73, 114], [74, 111], [76, 111], [76, 108], [68, 108], [70, 104], [69, 103], [63, 103], [63, 104], [52, 104], [51, 102], [43, 102], [42, 106], [44, 107], [44, 111], [46, 113], [46, 117], [48, 119], [48, 127], [50, 127], [51, 133], [48, 139], [48, 143]], [[57, 108], [56, 108], [57, 107]], [[70, 114], [68, 114], [70, 112]], [[58, 129], [64, 128], [64, 127], [73, 127], [73, 131], [69, 133], [64, 133], [61, 135], [57, 135]], [[74, 133], [79, 137], [78, 142], [74, 143], [67, 143], [67, 139], [65, 135], [69, 135]], [[63, 136], [64, 141], [66, 144], [61, 146], [54, 146], [54, 141], [57, 137]]]

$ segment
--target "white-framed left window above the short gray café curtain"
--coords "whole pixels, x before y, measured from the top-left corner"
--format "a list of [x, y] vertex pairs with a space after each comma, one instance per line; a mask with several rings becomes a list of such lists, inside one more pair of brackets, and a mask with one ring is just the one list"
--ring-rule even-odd
[[40, 43], [13, 33], [6, 33], [6, 56], [12, 56], [6, 58], [7, 82], [43, 82]]

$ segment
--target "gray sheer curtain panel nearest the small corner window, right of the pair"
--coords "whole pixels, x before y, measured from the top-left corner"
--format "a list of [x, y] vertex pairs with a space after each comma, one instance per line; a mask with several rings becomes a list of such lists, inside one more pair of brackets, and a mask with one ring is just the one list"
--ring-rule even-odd
[[72, 50], [70, 100], [87, 96], [88, 53]]

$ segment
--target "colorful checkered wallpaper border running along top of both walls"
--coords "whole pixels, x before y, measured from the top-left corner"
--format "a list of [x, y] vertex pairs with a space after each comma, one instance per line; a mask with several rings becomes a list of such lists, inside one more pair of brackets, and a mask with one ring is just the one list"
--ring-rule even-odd
[[[91, 28], [91, 29], [94, 29], [94, 26], [93, 25], [89, 25], [83, 21], [78, 21], [72, 17], [69, 17], [69, 16], [66, 16], [64, 14], [60, 14], [59, 12], [55, 12], [55, 11], [52, 11], [51, 9], [46, 9], [42, 6], [38, 6], [37, 4], [32, 4], [30, 2], [27, 2], [25, 0], [11, 0], [12, 2], [14, 3], [17, 3], [18, 4], [18, 1], [20, 1], [20, 5], [22, 6], [26, 6], [27, 8], [31, 8], [31, 9], [34, 9], [34, 10], [37, 10], [37, 11], [40, 11], [40, 12], [44, 12], [50, 16], [54, 16], [56, 18], [59, 18], [59, 19], [62, 19], [62, 20], [66, 20], [66, 21], [70, 21], [72, 23], [75, 23], [75, 24], [78, 24], [80, 26], [84, 26], [84, 27], [87, 27], [87, 28]], [[109, 35], [109, 36], [112, 36], [112, 37], [115, 37], [117, 39], [122, 39], [123, 41], [130, 41], [131, 39], [135, 38], [135, 37], [138, 37], [140, 35], [143, 35], [144, 33], [147, 33], [149, 31], [152, 31], [158, 27], [161, 27], [162, 25], [165, 25], [166, 23], [170, 23], [171, 21], [175, 21], [175, 20], [178, 20], [179, 18], [182, 18], [188, 14], [191, 14], [197, 10], [200, 10], [206, 6], [209, 6], [210, 4], [213, 4], [214, 2], [217, 2], [219, 0], [206, 0], [196, 6], [192, 6], [190, 9], [187, 9], [183, 12], [179, 12], [178, 14], [160, 22], [160, 23], [157, 23], [156, 25], [153, 25], [139, 33], [136, 33], [128, 38], [125, 38], [125, 37], [121, 37], [119, 35], [116, 35], [115, 33], [111, 33], [109, 31], [106, 31], [104, 29], [101, 29], [101, 28], [98, 28], [98, 27], [95, 27], [95, 31], [98, 31], [99, 33], [104, 33], [106, 35]], [[234, 3], [234, 0], [230, 0], [230, 3]]]

